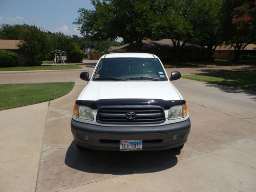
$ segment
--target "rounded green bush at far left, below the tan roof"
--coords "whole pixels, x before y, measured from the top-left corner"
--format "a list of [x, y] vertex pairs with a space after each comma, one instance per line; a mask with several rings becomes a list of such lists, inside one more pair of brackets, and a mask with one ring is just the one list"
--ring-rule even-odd
[[0, 50], [0, 67], [17, 67], [18, 55], [12, 51]]

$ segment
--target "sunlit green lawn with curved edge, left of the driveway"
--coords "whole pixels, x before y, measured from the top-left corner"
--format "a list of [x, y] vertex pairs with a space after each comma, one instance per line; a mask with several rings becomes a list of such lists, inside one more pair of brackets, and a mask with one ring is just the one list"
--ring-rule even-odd
[[56, 99], [69, 93], [74, 82], [0, 84], [0, 110]]

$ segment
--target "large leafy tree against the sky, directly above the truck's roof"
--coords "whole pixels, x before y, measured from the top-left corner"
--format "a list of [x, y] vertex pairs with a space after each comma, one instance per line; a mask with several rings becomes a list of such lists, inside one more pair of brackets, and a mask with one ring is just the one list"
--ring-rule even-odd
[[142, 39], [151, 36], [155, 1], [152, 0], [103, 0], [93, 1], [93, 10], [81, 8], [73, 24], [80, 25], [85, 33], [97, 40], [116, 39], [140, 49]]

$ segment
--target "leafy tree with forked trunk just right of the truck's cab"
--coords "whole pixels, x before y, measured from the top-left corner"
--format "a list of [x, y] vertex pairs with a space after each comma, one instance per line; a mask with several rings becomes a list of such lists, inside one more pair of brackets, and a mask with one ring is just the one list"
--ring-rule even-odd
[[192, 3], [193, 0], [158, 1], [154, 36], [172, 39], [176, 62], [185, 44], [194, 37]]

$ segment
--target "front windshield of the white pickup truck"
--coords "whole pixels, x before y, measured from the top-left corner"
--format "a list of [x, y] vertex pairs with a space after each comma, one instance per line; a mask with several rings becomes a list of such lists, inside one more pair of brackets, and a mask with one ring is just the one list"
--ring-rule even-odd
[[103, 58], [93, 80], [166, 81], [167, 78], [157, 58]]

